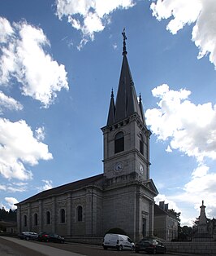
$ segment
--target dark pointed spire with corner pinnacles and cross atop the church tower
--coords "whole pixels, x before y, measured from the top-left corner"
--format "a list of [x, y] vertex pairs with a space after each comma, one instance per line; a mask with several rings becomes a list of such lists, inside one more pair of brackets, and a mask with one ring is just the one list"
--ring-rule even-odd
[[[125, 29], [123, 29], [123, 63], [119, 78], [119, 89], [116, 97], [116, 102], [111, 98], [110, 101], [110, 111], [107, 125], [111, 126], [114, 123], [119, 121], [123, 121], [125, 118], [130, 117], [133, 113], [137, 113], [141, 119], [145, 123], [145, 117], [143, 113], [143, 108], [141, 104], [141, 100], [138, 103], [136, 90], [134, 86], [134, 82], [132, 80], [132, 73], [129, 68], [129, 64], [127, 61], [127, 51], [126, 51], [126, 35]], [[114, 118], [113, 118], [114, 113]]]

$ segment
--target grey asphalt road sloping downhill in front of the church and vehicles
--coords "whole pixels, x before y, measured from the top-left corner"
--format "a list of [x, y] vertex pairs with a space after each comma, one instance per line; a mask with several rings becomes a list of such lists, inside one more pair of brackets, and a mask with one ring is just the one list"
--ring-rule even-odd
[[[82, 244], [54, 244], [38, 241], [21, 241], [18, 238], [3, 238], [0, 236], [0, 256], [138, 256], [150, 254], [136, 254], [133, 251], [117, 251], [114, 249], [104, 250], [98, 245]], [[160, 256], [162, 254], [158, 254]], [[166, 256], [183, 254], [166, 254]], [[188, 254], [185, 254], [188, 256]], [[200, 256], [192, 254], [192, 256]]]

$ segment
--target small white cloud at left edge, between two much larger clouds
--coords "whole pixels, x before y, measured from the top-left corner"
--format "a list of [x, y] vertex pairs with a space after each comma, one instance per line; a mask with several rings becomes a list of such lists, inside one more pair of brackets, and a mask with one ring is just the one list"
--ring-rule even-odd
[[20, 104], [15, 99], [6, 96], [2, 90], [0, 90], [0, 113], [3, 109], [10, 109], [10, 110], [22, 110], [23, 105]]

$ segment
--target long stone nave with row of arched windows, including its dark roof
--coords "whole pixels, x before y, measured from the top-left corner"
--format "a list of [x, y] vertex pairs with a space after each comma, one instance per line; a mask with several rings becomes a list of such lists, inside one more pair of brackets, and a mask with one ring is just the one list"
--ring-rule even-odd
[[[63, 236], [101, 235], [102, 174], [79, 183], [78, 189], [77, 182], [69, 183], [63, 188], [41, 192], [17, 204], [19, 232], [30, 230], [55, 232]], [[62, 188], [61, 191], [59, 188]]]

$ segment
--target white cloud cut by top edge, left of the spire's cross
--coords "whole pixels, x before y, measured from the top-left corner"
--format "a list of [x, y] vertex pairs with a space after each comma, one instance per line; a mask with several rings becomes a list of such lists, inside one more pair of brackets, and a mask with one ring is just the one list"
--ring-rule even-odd
[[81, 31], [80, 49], [89, 39], [93, 41], [94, 33], [102, 31], [110, 23], [109, 15], [113, 11], [133, 6], [132, 0], [57, 0], [56, 14], [59, 20], [66, 16], [71, 26]]

